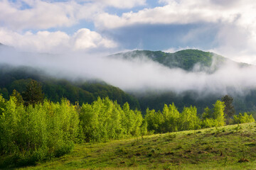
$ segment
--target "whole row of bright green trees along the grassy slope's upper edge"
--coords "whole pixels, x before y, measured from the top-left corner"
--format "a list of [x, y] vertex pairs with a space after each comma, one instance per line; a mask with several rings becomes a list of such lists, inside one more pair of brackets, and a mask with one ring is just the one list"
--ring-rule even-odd
[[174, 103], [165, 104], [161, 111], [148, 108], [142, 115], [141, 111], [132, 110], [129, 103], [120, 106], [110, 98], [99, 97], [82, 105], [65, 98], [53, 102], [44, 98], [37, 81], [31, 81], [23, 96], [16, 90], [9, 99], [0, 96], [0, 166], [33, 165], [60, 157], [70, 152], [75, 143], [255, 121], [247, 113], [234, 115], [230, 101], [230, 97], [216, 101], [212, 109], [205, 108], [203, 115], [198, 115], [195, 106], [184, 107], [180, 113]]

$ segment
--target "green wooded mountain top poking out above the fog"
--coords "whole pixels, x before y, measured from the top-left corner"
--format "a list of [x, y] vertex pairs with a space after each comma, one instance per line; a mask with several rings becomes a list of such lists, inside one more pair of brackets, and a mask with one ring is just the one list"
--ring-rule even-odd
[[[217, 55], [213, 52], [203, 52], [201, 50], [181, 50], [174, 53], [162, 52], [162, 51], [149, 51], [149, 50], [134, 50], [131, 52], [121, 52], [110, 57], [122, 57], [130, 60], [137, 57], [147, 57], [154, 62], [163, 64], [169, 68], [181, 68], [186, 71], [192, 71], [192, 69], [198, 64], [201, 70], [207, 70], [208, 72], [214, 72], [221, 67], [225, 62], [233, 62], [228, 58], [221, 55]], [[235, 62], [234, 62], [235, 63]], [[241, 67], [247, 66], [245, 63], [238, 63]], [[198, 71], [201, 71], [198, 70]]]

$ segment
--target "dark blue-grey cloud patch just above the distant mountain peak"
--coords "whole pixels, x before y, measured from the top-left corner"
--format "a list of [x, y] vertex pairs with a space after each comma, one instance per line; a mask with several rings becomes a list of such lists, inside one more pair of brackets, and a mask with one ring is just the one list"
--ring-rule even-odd
[[102, 31], [124, 49], [166, 50], [170, 47], [215, 46], [218, 25], [197, 23], [186, 25], [134, 25]]

